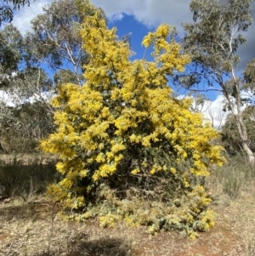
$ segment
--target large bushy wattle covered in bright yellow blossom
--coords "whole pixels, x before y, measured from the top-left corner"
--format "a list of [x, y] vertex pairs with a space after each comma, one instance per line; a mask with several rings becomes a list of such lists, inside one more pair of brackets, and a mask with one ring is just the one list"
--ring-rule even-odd
[[200, 180], [211, 164], [224, 162], [212, 144], [218, 132], [190, 111], [190, 100], [174, 99], [167, 84], [190, 57], [180, 54], [166, 25], [144, 37], [154, 60], [131, 61], [116, 28], [87, 8], [95, 11], [81, 30], [86, 82], [59, 87], [52, 101], [57, 129], [42, 140], [44, 151], [59, 155], [63, 177], [48, 192], [71, 218], [99, 215], [103, 226], [122, 219], [148, 225], [150, 233], [207, 230], [212, 213]]

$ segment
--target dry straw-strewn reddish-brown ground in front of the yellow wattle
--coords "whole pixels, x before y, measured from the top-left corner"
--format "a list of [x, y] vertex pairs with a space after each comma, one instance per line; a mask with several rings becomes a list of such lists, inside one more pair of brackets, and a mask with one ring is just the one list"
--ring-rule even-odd
[[[217, 196], [217, 195], [216, 195]], [[230, 200], [212, 203], [216, 226], [191, 241], [177, 233], [146, 234], [146, 228], [101, 228], [97, 220], [65, 222], [47, 198], [0, 202], [0, 255], [69, 256], [252, 256], [255, 255], [255, 186], [244, 187]]]

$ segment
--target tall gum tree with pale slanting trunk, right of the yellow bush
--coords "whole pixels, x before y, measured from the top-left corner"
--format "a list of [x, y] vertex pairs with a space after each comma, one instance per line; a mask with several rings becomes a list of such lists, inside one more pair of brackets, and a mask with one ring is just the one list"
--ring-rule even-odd
[[192, 0], [190, 10], [193, 23], [184, 23], [184, 52], [190, 54], [192, 65], [184, 76], [178, 76], [185, 88], [199, 90], [217, 89], [224, 94], [226, 107], [231, 111], [241, 138], [241, 146], [254, 163], [254, 155], [248, 145], [246, 124], [241, 106], [244, 77], [237, 75], [240, 57], [237, 49], [246, 42], [242, 36], [252, 24], [252, 0]]

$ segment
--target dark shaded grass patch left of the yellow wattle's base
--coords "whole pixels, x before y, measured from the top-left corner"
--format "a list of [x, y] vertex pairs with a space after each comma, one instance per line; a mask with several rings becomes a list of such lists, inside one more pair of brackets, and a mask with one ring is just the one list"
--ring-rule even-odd
[[48, 155], [0, 155], [0, 200], [30, 196], [46, 191], [48, 184], [58, 179], [55, 159]]

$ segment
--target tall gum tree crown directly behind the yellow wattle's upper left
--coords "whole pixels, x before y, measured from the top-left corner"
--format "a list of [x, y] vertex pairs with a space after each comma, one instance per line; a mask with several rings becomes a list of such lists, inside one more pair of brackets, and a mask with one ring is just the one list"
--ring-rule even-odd
[[[79, 36], [82, 20], [94, 14], [84, 0], [59, 0], [45, 6], [43, 13], [31, 20], [32, 31], [26, 34], [26, 52], [30, 65], [46, 64], [54, 71], [54, 83], [82, 85], [82, 65], [88, 55]], [[99, 10], [103, 19], [105, 13]]]

